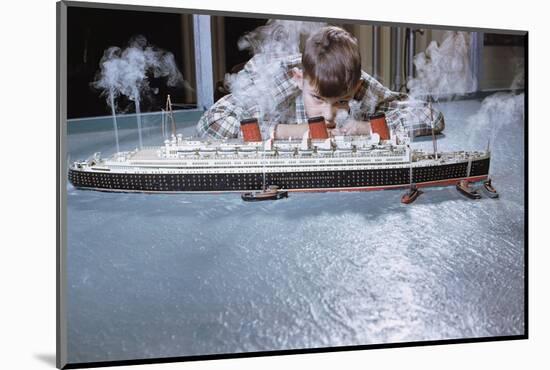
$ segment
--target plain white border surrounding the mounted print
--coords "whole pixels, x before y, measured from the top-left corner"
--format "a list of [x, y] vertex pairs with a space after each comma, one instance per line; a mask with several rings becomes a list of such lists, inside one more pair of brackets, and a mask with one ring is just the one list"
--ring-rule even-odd
[[[530, 31], [528, 341], [158, 364], [131, 369], [519, 369], [548, 363], [548, 12], [505, 1], [132, 0], [113, 3]], [[343, 5], [342, 5], [343, 4]], [[361, 5], [356, 5], [361, 4]], [[55, 354], [55, 1], [6, 2], [2, 35], [2, 368], [53, 368]], [[536, 133], [536, 134], [535, 134]], [[21, 146], [22, 143], [24, 146]], [[23, 149], [33, 148], [33, 151]], [[37, 161], [37, 158], [39, 161]], [[30, 167], [30, 163], [40, 163]], [[535, 170], [537, 174], [535, 174]]]

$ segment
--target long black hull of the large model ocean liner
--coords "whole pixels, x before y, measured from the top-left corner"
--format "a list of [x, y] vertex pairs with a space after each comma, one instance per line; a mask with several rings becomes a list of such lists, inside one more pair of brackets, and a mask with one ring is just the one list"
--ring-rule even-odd
[[[489, 158], [468, 163], [415, 167], [417, 186], [456, 184], [461, 179], [481, 181], [489, 173]], [[267, 172], [265, 183], [289, 191], [381, 190], [410, 185], [409, 167], [342, 169], [338, 171]], [[262, 188], [258, 173], [117, 173], [69, 169], [69, 181], [77, 188], [120, 192], [244, 192]]]

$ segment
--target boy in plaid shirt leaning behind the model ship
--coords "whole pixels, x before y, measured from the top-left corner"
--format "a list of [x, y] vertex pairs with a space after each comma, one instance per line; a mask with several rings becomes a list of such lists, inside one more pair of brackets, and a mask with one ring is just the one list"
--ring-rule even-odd
[[391, 128], [412, 136], [431, 135], [432, 126], [435, 133], [445, 127], [440, 112], [408, 101], [362, 71], [357, 41], [338, 27], [313, 34], [301, 55], [254, 56], [234, 81], [232, 94], [200, 118], [200, 136], [237, 137], [240, 121], [256, 117], [264, 128], [275, 125], [276, 138], [300, 138], [308, 129], [307, 119], [315, 116], [324, 117], [332, 134], [368, 135], [368, 119], [375, 112], [384, 112]]

